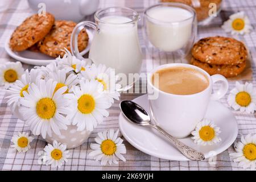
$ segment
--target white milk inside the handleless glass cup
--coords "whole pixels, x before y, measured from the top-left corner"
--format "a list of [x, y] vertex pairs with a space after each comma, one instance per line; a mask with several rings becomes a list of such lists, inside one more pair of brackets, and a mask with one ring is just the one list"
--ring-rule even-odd
[[180, 7], [154, 7], [147, 11], [148, 39], [162, 51], [183, 48], [192, 34], [193, 14]]

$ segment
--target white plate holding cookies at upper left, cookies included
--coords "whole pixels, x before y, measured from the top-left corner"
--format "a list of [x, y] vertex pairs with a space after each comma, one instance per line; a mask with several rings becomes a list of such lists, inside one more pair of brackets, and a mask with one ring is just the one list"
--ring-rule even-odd
[[[7, 39], [6, 52], [26, 64], [47, 65], [56, 57], [63, 57], [64, 48], [70, 50], [70, 39], [75, 27], [75, 22], [56, 20], [50, 13], [31, 15]], [[91, 31], [81, 30], [77, 41], [81, 55], [89, 52], [92, 39]]]

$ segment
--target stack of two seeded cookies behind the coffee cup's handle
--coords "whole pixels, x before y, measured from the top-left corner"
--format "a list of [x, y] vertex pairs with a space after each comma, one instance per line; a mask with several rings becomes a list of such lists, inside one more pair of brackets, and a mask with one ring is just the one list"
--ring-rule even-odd
[[209, 75], [234, 77], [246, 67], [245, 45], [233, 38], [216, 36], [201, 39], [191, 53], [191, 64], [204, 69]]

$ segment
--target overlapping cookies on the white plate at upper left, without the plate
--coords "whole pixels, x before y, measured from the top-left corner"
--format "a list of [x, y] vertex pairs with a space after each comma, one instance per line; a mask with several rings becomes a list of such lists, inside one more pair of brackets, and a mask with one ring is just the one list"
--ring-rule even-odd
[[[11, 35], [10, 48], [13, 51], [42, 52], [52, 57], [63, 57], [62, 50], [71, 51], [70, 41], [76, 23], [66, 20], [55, 20], [52, 14], [38, 14], [28, 17]], [[88, 45], [88, 34], [82, 30], [78, 38], [79, 51]]]

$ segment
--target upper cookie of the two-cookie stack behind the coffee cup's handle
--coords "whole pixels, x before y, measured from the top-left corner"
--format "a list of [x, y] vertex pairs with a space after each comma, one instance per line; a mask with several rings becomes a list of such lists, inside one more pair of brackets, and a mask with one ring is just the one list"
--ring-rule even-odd
[[233, 38], [221, 36], [199, 40], [192, 48], [195, 59], [209, 64], [237, 65], [245, 62], [245, 45]]

